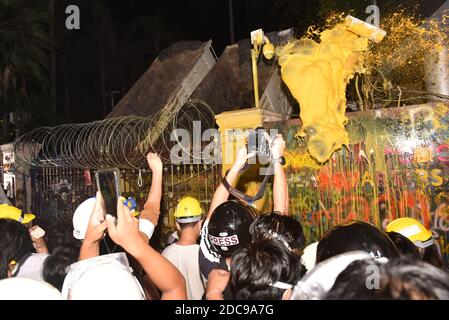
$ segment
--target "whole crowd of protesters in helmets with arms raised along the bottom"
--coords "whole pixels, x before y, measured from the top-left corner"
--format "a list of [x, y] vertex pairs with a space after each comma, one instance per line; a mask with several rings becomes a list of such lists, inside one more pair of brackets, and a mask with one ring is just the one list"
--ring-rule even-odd
[[[120, 198], [117, 217], [107, 214], [100, 192], [80, 204], [69, 227], [1, 205], [0, 299], [449, 299], [441, 251], [415, 219], [394, 220], [386, 230], [349, 221], [307, 245], [276, 161], [285, 141], [267, 139], [272, 212], [231, 199], [223, 183], [207, 211], [186, 195], [174, 213], [174, 242], [163, 251], [150, 245], [162, 197], [156, 154], [147, 156], [152, 184], [139, 213]], [[253, 156], [239, 151], [229, 185]]]

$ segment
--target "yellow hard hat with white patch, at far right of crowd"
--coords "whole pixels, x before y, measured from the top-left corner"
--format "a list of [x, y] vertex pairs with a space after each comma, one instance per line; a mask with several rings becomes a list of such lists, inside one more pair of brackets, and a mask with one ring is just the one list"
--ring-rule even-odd
[[433, 244], [432, 232], [413, 218], [393, 220], [387, 225], [386, 231], [402, 234], [419, 248], [426, 248]]

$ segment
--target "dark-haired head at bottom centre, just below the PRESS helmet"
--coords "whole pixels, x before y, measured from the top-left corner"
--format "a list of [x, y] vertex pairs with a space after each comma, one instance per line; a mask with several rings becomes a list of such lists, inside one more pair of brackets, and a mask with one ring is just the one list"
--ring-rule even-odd
[[301, 274], [299, 257], [279, 241], [261, 240], [232, 255], [231, 290], [237, 300], [282, 299], [276, 282], [295, 285]]

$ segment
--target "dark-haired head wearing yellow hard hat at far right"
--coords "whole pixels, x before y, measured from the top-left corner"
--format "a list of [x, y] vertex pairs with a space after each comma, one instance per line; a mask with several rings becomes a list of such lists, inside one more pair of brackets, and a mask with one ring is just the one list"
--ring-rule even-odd
[[421, 260], [436, 267], [443, 267], [444, 261], [438, 243], [433, 240], [432, 232], [421, 222], [413, 218], [399, 218], [387, 225], [387, 233], [399, 233], [409, 239], [419, 251]]

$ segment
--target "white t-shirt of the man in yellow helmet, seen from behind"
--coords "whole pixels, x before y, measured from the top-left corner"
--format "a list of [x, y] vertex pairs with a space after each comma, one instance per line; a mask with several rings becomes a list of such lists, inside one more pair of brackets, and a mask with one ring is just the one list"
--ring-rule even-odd
[[198, 264], [200, 246], [197, 244], [181, 246], [176, 243], [168, 246], [162, 252], [184, 276], [189, 300], [201, 300], [204, 294], [203, 279]]

